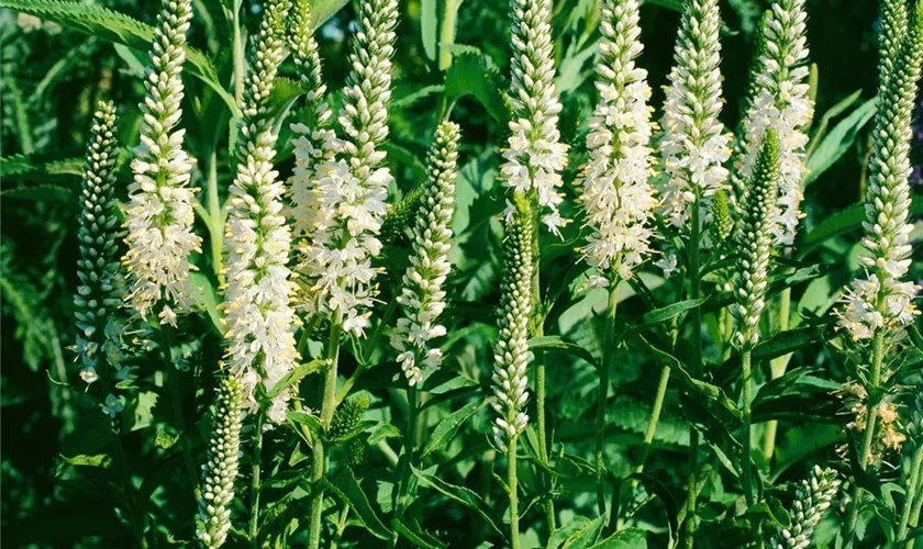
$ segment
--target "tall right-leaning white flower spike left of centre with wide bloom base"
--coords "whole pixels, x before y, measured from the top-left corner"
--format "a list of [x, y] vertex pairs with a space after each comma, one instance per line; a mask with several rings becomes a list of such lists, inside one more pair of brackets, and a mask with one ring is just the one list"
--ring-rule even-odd
[[[305, 309], [309, 314], [333, 315], [345, 332], [359, 337], [377, 293], [371, 260], [381, 250], [378, 234], [392, 180], [379, 147], [388, 136], [397, 19], [397, 0], [360, 2], [349, 55], [353, 70], [337, 119], [343, 138], [321, 132], [296, 142], [298, 163], [304, 159], [304, 169], [313, 171], [293, 183], [300, 187], [294, 191], [300, 195], [296, 217], [305, 232], [299, 246]], [[310, 192], [304, 190], [308, 186]]]

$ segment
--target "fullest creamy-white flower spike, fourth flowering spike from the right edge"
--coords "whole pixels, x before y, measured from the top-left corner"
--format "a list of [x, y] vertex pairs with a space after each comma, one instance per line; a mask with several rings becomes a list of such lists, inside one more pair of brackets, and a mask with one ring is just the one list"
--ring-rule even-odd
[[637, 0], [603, 0], [602, 41], [597, 63], [600, 101], [589, 120], [590, 159], [581, 186], [586, 225], [592, 233], [581, 248], [587, 262], [607, 278], [630, 279], [648, 256], [648, 226], [657, 199], [653, 175], [650, 87], [641, 54]]

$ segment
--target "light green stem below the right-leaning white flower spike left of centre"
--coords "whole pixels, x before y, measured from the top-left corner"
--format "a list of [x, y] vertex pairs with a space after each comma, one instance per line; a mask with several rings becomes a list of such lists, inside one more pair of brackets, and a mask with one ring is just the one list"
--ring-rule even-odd
[[[330, 327], [330, 341], [326, 352], [326, 373], [321, 386], [321, 425], [326, 428], [333, 419], [336, 410], [336, 369], [340, 361], [340, 336], [342, 332], [342, 313], [336, 314]], [[321, 514], [324, 506], [323, 480], [326, 474], [327, 456], [323, 440], [314, 440], [314, 457], [311, 463], [311, 523], [308, 529], [308, 547], [321, 547]]]

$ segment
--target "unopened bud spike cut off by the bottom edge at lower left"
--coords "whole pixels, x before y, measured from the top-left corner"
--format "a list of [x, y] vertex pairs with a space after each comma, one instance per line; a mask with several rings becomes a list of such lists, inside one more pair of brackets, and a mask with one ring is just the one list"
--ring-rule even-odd
[[212, 406], [209, 461], [202, 466], [202, 495], [196, 517], [196, 536], [208, 549], [224, 544], [231, 529], [231, 503], [241, 453], [244, 386], [229, 376], [221, 380]]

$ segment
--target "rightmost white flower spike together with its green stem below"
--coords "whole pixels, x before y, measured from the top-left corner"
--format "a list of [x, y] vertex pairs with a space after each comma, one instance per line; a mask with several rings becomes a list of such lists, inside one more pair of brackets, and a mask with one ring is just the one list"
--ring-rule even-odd
[[[863, 224], [865, 251], [859, 265], [866, 276], [844, 292], [837, 312], [845, 328], [864, 351], [870, 343], [868, 417], [859, 451], [859, 467], [867, 467], [872, 453], [879, 402], [885, 393], [882, 370], [887, 355], [905, 336], [905, 326], [919, 314], [914, 300], [919, 287], [904, 281], [911, 264], [910, 144], [916, 85], [923, 64], [923, 2], [918, 2], [909, 25], [900, 20], [896, 3], [882, 2], [886, 21], [879, 61], [878, 112], [872, 128], [872, 154]], [[897, 51], [897, 58], [887, 56]], [[844, 533], [852, 542], [863, 491], [856, 484]]]

